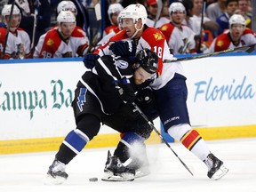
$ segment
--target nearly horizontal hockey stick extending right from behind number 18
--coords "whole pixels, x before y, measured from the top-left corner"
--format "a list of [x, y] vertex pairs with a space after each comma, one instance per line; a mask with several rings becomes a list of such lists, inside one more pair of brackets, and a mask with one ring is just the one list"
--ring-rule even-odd
[[207, 57], [211, 57], [211, 56], [215, 56], [215, 55], [220, 55], [223, 53], [237, 52], [237, 51], [244, 51], [244, 52], [251, 53], [255, 50], [255, 46], [256, 46], [256, 44], [251, 44], [248, 46], [236, 47], [236, 48], [224, 50], [221, 52], [212, 52], [212, 53], [208, 53], [208, 54], [196, 55], [194, 57], [178, 58], [177, 60], [164, 60], [164, 62], [170, 63], [170, 62], [177, 62], [177, 61], [197, 60], [197, 59], [203, 59], [203, 58], [207, 58]]

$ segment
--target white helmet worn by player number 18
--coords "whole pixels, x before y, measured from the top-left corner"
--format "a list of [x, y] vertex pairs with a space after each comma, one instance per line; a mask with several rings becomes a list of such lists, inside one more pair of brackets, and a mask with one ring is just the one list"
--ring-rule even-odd
[[120, 12], [120, 19], [132, 18], [133, 23], [136, 24], [139, 19], [142, 20], [142, 26], [146, 23], [148, 13], [142, 4], [130, 4]]

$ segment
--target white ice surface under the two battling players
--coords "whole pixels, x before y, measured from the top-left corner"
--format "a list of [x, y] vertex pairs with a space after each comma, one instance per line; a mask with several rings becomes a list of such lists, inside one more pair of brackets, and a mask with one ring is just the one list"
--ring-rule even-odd
[[[55, 152], [0, 156], [0, 192], [222, 192], [256, 191], [256, 138], [207, 141], [215, 156], [229, 169], [221, 180], [209, 180], [206, 166], [180, 143], [172, 149], [194, 172], [180, 164], [165, 144], [148, 145], [151, 174], [129, 182], [106, 182], [100, 178], [107, 152], [114, 148], [84, 149], [68, 164], [68, 180], [59, 186], [44, 185], [46, 172]], [[90, 182], [98, 177], [98, 182]]]

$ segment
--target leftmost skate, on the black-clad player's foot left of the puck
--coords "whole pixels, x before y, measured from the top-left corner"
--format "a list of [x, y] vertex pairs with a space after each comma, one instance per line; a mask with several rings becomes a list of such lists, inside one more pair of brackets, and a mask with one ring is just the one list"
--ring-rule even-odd
[[58, 160], [54, 160], [47, 172], [47, 178], [44, 184], [60, 185], [68, 179], [68, 174], [65, 172], [66, 165]]

